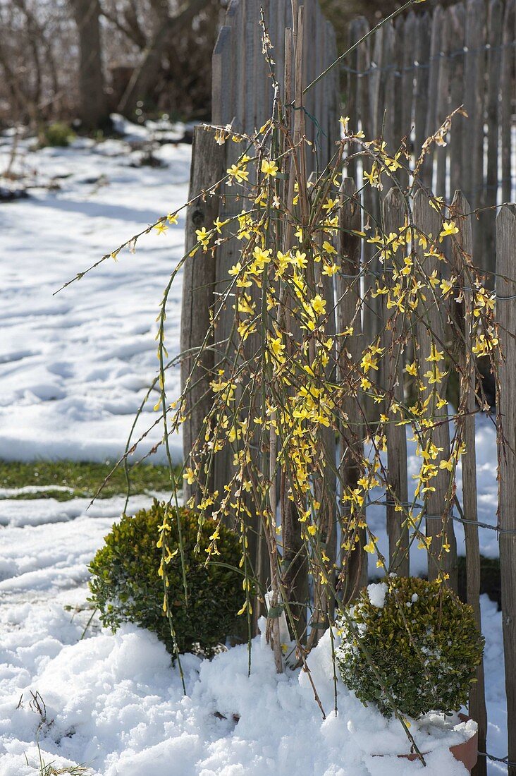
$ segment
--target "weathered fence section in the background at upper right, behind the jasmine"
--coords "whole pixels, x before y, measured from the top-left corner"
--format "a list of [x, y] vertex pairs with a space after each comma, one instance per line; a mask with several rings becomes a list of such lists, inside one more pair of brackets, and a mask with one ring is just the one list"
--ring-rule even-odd
[[[514, 0], [466, 0], [447, 9], [400, 16], [380, 27], [342, 66], [345, 112], [367, 137], [399, 147], [407, 137], [415, 155], [452, 110], [457, 116], [448, 145], [435, 147], [422, 180], [436, 196], [451, 199], [462, 189], [472, 209], [511, 202], [512, 116], [515, 108]], [[349, 43], [369, 32], [366, 19], [349, 26]], [[349, 175], [356, 175], [351, 163]], [[369, 203], [366, 203], [366, 206]], [[379, 210], [370, 203], [376, 215]], [[493, 286], [493, 210], [473, 222], [473, 246]]]

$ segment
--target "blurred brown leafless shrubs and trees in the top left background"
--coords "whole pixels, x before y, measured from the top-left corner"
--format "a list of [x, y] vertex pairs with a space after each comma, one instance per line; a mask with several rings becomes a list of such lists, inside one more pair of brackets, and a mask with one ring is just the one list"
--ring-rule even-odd
[[0, 0], [0, 126], [210, 115], [221, 0]]

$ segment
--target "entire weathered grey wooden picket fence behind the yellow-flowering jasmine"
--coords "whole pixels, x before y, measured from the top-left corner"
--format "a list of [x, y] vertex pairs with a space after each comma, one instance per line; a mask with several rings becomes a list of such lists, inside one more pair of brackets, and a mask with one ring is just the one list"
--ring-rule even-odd
[[[414, 197], [414, 223], [421, 232], [438, 234], [441, 220], [429, 205], [429, 193], [452, 199], [452, 213], [459, 226], [458, 244], [473, 265], [492, 273], [492, 285], [497, 294], [497, 324], [504, 360], [499, 365], [500, 396], [497, 404], [499, 422], [498, 459], [500, 466], [498, 524], [492, 530], [499, 532], [500, 567], [502, 581], [502, 608], [504, 622], [504, 650], [507, 689], [509, 753], [516, 762], [516, 206], [500, 206], [496, 222], [494, 208], [481, 213], [480, 220], [472, 213], [476, 207], [496, 206], [509, 202], [513, 189], [511, 168], [511, 129], [514, 104], [514, 5], [516, 0], [467, 0], [465, 4], [443, 10], [437, 7], [431, 14], [401, 17], [395, 24], [380, 28], [368, 41], [358, 47], [345, 62], [345, 113], [352, 123], [362, 125], [368, 137], [382, 136], [392, 150], [403, 135], [408, 135], [415, 149], [424, 138], [433, 133], [452, 109], [464, 104], [470, 118], [458, 117], [452, 128], [448, 146], [438, 147], [423, 170], [422, 187]], [[232, 0], [226, 24], [213, 54], [213, 123], [232, 124], [235, 130], [252, 133], [265, 123], [272, 109], [271, 79], [268, 78], [265, 59], [261, 54], [260, 5], [264, 8], [265, 26], [274, 45], [278, 80], [283, 96], [289, 99], [289, 61], [292, 54], [292, 5], [287, 0]], [[308, 19], [308, 22], [306, 22]], [[304, 19], [306, 68], [303, 80], [310, 83], [330, 64], [334, 57], [334, 34], [320, 13], [317, 3], [307, 2]], [[356, 19], [350, 29], [350, 40], [358, 40], [367, 32], [364, 19]], [[314, 53], [315, 52], [315, 53]], [[286, 75], [281, 77], [281, 73]], [[324, 79], [306, 95], [306, 134], [317, 147], [312, 165], [326, 164], [332, 154], [338, 133], [337, 82], [334, 76]], [[310, 100], [308, 99], [310, 98]], [[386, 109], [384, 112], [384, 108]], [[411, 127], [414, 126], [414, 130]], [[241, 153], [238, 144], [221, 147], [213, 144], [202, 128], [194, 137], [190, 196], [194, 197], [223, 177], [230, 164]], [[359, 282], [358, 275], [364, 262], [370, 262], [368, 248], [349, 229], [358, 230], [361, 223], [362, 189], [358, 175], [361, 169], [350, 161], [347, 177], [342, 182], [341, 240], [342, 274], [334, 278], [334, 299], [342, 300], [335, 311], [337, 332], [347, 325], [355, 310]], [[355, 180], [354, 180], [355, 178]], [[356, 184], [355, 184], [356, 181]], [[406, 183], [406, 182], [405, 182]], [[462, 189], [462, 190], [461, 190]], [[387, 233], [403, 223], [404, 207], [397, 189], [384, 192], [383, 202], [376, 204], [368, 194], [362, 194], [365, 210], [377, 209]], [[186, 217], [186, 249], [196, 244], [196, 230], [210, 228], [219, 216], [232, 217], [242, 209], [234, 191], [225, 189], [222, 198], [199, 199], [189, 207]], [[368, 199], [369, 198], [369, 199]], [[496, 249], [495, 249], [496, 242]], [[182, 351], [196, 352], [206, 343], [210, 327], [210, 307], [227, 287], [227, 271], [237, 262], [237, 246], [228, 241], [211, 253], [196, 255], [185, 264], [182, 307]], [[368, 264], [369, 265], [369, 264]], [[436, 267], [439, 271], [439, 267]], [[456, 275], [462, 272], [457, 260]], [[431, 267], [428, 268], [431, 272]], [[351, 279], [350, 279], [351, 278]], [[467, 285], [467, 284], [466, 284]], [[349, 289], [348, 293], [346, 289]], [[366, 290], [366, 289], [365, 289]], [[466, 295], [467, 296], [467, 295]], [[464, 300], [467, 310], [469, 300]], [[351, 307], [350, 307], [351, 305]], [[368, 306], [369, 307], [369, 304]], [[349, 309], [348, 309], [349, 308]], [[431, 313], [433, 315], [434, 313]], [[442, 327], [442, 341], [455, 348], [461, 362], [460, 327], [464, 310], [452, 306], [449, 320], [455, 321], [445, 330], [445, 318], [438, 316], [432, 326]], [[437, 316], [437, 312], [435, 311]], [[357, 322], [355, 321], [355, 324]], [[363, 316], [365, 339], [372, 341], [373, 332], [367, 316]], [[359, 322], [358, 322], [359, 325]], [[380, 324], [376, 324], [381, 332]], [[455, 333], [454, 333], [455, 332]], [[230, 312], [221, 319], [217, 328], [221, 342], [230, 337]], [[419, 333], [424, 341], [424, 331]], [[456, 343], [454, 345], [454, 338]], [[355, 339], [355, 338], [353, 338]], [[358, 338], [356, 338], [358, 343]], [[215, 343], [216, 345], [216, 343]], [[356, 345], [359, 347], [359, 345]], [[353, 345], [351, 345], [353, 347]], [[203, 427], [210, 407], [209, 382], [216, 368], [216, 347], [206, 350], [199, 362], [198, 379], [190, 396], [192, 414], [184, 430], [185, 457], [192, 442]], [[397, 359], [394, 359], [396, 362]], [[192, 356], [182, 361], [183, 385], [192, 366]], [[462, 364], [466, 369], [466, 363]], [[403, 392], [403, 362], [399, 375], [389, 376], [395, 391]], [[398, 377], [398, 379], [396, 379]], [[471, 374], [468, 407], [470, 414], [461, 421], [462, 437], [467, 454], [462, 461], [463, 504], [462, 514], [450, 514], [448, 532], [451, 552], [445, 558], [445, 570], [450, 584], [456, 589], [457, 553], [453, 539], [455, 521], [462, 521], [466, 537], [467, 598], [473, 606], [480, 625], [480, 549], [476, 499], [476, 406], [474, 373]], [[396, 395], [394, 396], [396, 398]], [[400, 393], [399, 398], [402, 398]], [[350, 413], [353, 409], [350, 404]], [[356, 411], [356, 410], [355, 410]], [[387, 458], [390, 487], [402, 504], [407, 504], [407, 441], [404, 427], [387, 426]], [[435, 444], [448, 449], [448, 424], [435, 430]], [[222, 490], [227, 479], [228, 460], [216, 459], [212, 487]], [[428, 498], [429, 515], [445, 514], [445, 473], [435, 480], [435, 492]], [[350, 475], [352, 476], [352, 475]], [[188, 492], [188, 490], [187, 490]], [[394, 505], [386, 506], [386, 526], [390, 540], [391, 557], [400, 540], [400, 513]], [[438, 521], [428, 519], [429, 535], [441, 530]], [[480, 528], [489, 530], [489, 528]], [[257, 532], [258, 534], [258, 529]], [[251, 548], [252, 551], [252, 548]], [[258, 552], [258, 549], [256, 549]], [[259, 570], [259, 560], [255, 568]], [[399, 573], [410, 573], [408, 558], [403, 559]], [[487, 715], [484, 698], [483, 670], [470, 698], [470, 711], [479, 723], [479, 747], [486, 751]], [[516, 776], [516, 766], [509, 766], [509, 774]], [[476, 776], [486, 774], [486, 758], [481, 757], [474, 771]]]

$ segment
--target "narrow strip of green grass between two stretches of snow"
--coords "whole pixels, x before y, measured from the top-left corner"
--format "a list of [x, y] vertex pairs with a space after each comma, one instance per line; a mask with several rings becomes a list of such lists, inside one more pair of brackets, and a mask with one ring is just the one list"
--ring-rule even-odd
[[[89, 463], [78, 461], [3, 461], [0, 459], [0, 488], [37, 487], [36, 493], [9, 494], [0, 498], [56, 498], [70, 501], [72, 498], [92, 498], [113, 469], [113, 463]], [[130, 466], [131, 494], [149, 490], [171, 489], [168, 466], [141, 464]], [[60, 490], [67, 488], [68, 490]], [[116, 469], [102, 489], [99, 498], [126, 494], [126, 476], [123, 467]]]

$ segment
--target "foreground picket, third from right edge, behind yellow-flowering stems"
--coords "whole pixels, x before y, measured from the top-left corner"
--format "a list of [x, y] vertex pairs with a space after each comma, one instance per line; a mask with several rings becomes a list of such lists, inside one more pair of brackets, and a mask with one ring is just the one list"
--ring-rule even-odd
[[[442, 227], [442, 220], [439, 214], [431, 207], [428, 201], [428, 195], [420, 189], [414, 197], [414, 223], [418, 232], [427, 235], [432, 234], [433, 238], [439, 234]], [[421, 245], [417, 247], [417, 254], [419, 261], [424, 265], [427, 275], [431, 275], [431, 272], [437, 270], [440, 272], [440, 262], [438, 258], [434, 256], [424, 257], [424, 249]], [[419, 344], [418, 360], [424, 368], [426, 368], [425, 359], [428, 359], [431, 348], [431, 335], [428, 328], [434, 334], [435, 345], [438, 347], [441, 343], [446, 341], [445, 326], [443, 323], [442, 310], [438, 309], [437, 303], [432, 299], [431, 294], [428, 293], [427, 299], [427, 314], [421, 316], [421, 322], [417, 324], [417, 340]], [[425, 317], [427, 320], [424, 320]], [[445, 379], [441, 385], [441, 391], [443, 397], [445, 396]], [[438, 422], [434, 428], [434, 444], [438, 448], [442, 448], [442, 456], [449, 458], [450, 448], [450, 433], [448, 428], [448, 421], [446, 417], [447, 410], [443, 411], [441, 422]], [[435, 422], [435, 411], [432, 407], [428, 408], [428, 417], [433, 418]], [[431, 518], [427, 521], [427, 535], [433, 537], [433, 543], [437, 543], [438, 535], [444, 530], [449, 545], [449, 552], [443, 553], [442, 556], [442, 570], [448, 573], [448, 587], [451, 587], [453, 591], [457, 591], [457, 546], [455, 542], [455, 531], [453, 529], [453, 521], [445, 514], [450, 504], [447, 504], [448, 494], [448, 471], [442, 469], [438, 472], [431, 483], [432, 487], [435, 487], [435, 491], [431, 491], [426, 498], [426, 514], [431, 515]], [[439, 516], [443, 517], [443, 520], [438, 519]], [[431, 546], [428, 551], [428, 558], [430, 561], [431, 555], [435, 554], [435, 549]], [[435, 563], [428, 563], [428, 579], [435, 580], [438, 577], [438, 569]]]

